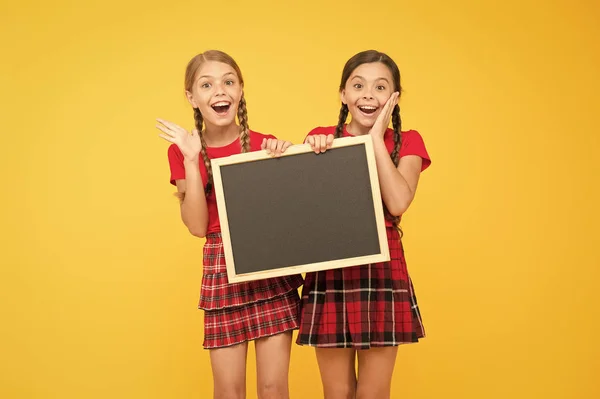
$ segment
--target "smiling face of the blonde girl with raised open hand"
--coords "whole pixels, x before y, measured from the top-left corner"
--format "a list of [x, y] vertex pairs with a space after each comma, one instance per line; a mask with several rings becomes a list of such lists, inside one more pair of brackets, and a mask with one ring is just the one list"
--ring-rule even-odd
[[235, 123], [243, 82], [229, 64], [205, 61], [196, 71], [191, 87], [186, 87], [188, 101], [198, 108], [207, 126], [225, 127]]

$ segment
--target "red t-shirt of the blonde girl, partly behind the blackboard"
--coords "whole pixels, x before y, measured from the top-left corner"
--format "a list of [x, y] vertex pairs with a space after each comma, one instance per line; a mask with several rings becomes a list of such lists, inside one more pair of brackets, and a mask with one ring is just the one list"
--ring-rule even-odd
[[[276, 137], [270, 134], [257, 133], [250, 130], [250, 151], [259, 151], [260, 145], [264, 138], [275, 139]], [[242, 146], [239, 139], [235, 139], [232, 143], [223, 147], [206, 147], [206, 153], [209, 158], [223, 158], [234, 154], [240, 154]], [[175, 181], [185, 179], [185, 168], [183, 166], [183, 154], [179, 147], [171, 144], [168, 150], [169, 166], [171, 167], [171, 184], [176, 185]], [[200, 176], [202, 177], [203, 186], [206, 188], [208, 181], [208, 173], [202, 157], [200, 157]], [[221, 231], [219, 222], [219, 212], [217, 210], [217, 199], [215, 197], [214, 187], [208, 197], [206, 197], [206, 205], [208, 206], [208, 230], [207, 233], [218, 233]]]

